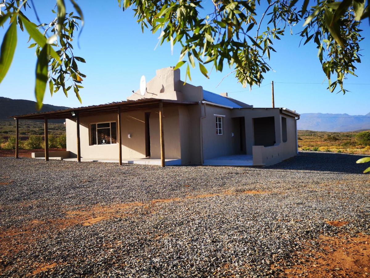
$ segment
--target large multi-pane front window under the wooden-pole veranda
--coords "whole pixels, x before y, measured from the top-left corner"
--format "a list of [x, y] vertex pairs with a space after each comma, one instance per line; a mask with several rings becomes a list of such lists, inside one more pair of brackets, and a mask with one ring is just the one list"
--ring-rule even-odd
[[90, 145], [108, 145], [117, 143], [116, 123], [90, 124]]

